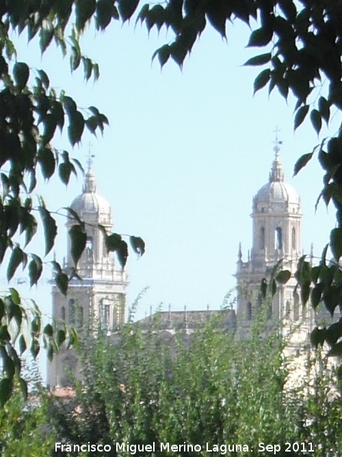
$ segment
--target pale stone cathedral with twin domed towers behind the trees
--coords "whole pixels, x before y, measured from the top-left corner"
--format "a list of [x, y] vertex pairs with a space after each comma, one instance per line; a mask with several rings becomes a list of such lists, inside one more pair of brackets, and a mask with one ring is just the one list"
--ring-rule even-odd
[[[293, 324], [298, 331], [289, 340], [289, 349], [298, 351], [308, 342], [308, 335], [314, 327], [314, 316], [310, 306], [302, 307], [295, 291], [294, 277], [301, 254], [300, 223], [302, 210], [300, 197], [286, 182], [279, 158], [280, 142], [276, 140], [275, 158], [269, 172], [267, 184], [261, 187], [252, 201], [252, 249], [243, 260], [241, 245], [237, 261], [237, 306], [236, 310], [226, 310], [224, 322], [237, 338], [248, 338], [251, 323], [263, 304], [260, 294], [261, 280], [269, 276], [274, 265], [279, 262], [281, 269], [291, 271], [286, 284], [278, 284], [272, 302], [267, 304], [267, 325], [277, 325], [289, 333]], [[86, 223], [87, 244], [78, 264], [82, 280], [70, 281], [68, 295], [64, 297], [53, 285], [53, 319], [56, 323], [66, 322], [79, 328], [94, 328], [92, 322], [101, 324], [108, 335], [116, 332], [124, 323], [125, 294], [127, 277], [124, 271], [116, 269], [114, 256], [107, 254], [103, 234], [97, 225], [101, 224], [111, 232], [113, 221], [111, 208], [106, 199], [96, 190], [91, 161], [84, 178], [83, 192], [71, 203], [72, 208]], [[74, 221], [69, 219], [67, 230]], [[64, 268], [73, 267], [70, 255], [70, 240], [67, 242], [67, 256]], [[312, 254], [311, 254], [312, 261]], [[176, 330], [191, 335], [194, 330], [218, 311], [177, 311], [158, 312], [145, 317], [140, 322], [147, 328], [156, 318], [159, 330], [165, 334], [168, 343]], [[49, 365], [48, 382], [51, 387], [68, 385], [68, 370], [79, 373], [79, 362], [73, 351], [61, 349]]]

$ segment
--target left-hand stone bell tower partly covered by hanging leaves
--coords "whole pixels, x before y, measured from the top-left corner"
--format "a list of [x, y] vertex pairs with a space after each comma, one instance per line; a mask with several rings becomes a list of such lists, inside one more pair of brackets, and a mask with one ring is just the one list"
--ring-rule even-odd
[[[111, 232], [113, 219], [108, 201], [97, 192], [91, 158], [83, 191], [70, 208], [86, 223], [86, 249], [77, 264], [81, 280], [70, 280], [67, 296], [64, 297], [55, 284], [52, 286], [53, 319], [57, 325], [65, 322], [77, 328], [80, 336], [85, 330], [97, 331], [98, 328], [109, 335], [124, 323], [127, 277], [116, 268], [114, 254], [107, 254], [103, 233], [98, 230], [98, 225], [102, 225]], [[70, 230], [75, 223], [68, 219], [66, 229]], [[74, 266], [68, 237], [64, 269]], [[79, 361], [73, 351], [61, 348], [49, 365], [49, 386], [68, 385], [68, 370], [79, 377]]]

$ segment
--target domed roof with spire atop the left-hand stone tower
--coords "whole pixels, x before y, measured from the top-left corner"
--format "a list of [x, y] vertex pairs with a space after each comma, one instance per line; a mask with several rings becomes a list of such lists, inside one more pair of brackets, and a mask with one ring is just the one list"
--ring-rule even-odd
[[[83, 192], [78, 195], [71, 203], [70, 208], [73, 209], [80, 217], [84, 213], [111, 216], [111, 207], [109, 202], [97, 193], [94, 173], [91, 166], [84, 177]], [[110, 218], [111, 219], [111, 218]]]

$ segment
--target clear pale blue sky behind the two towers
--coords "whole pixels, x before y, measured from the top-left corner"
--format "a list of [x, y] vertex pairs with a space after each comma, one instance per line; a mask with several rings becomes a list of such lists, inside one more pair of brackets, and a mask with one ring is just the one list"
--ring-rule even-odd
[[[161, 71], [151, 57], [171, 36], [151, 32], [148, 38], [133, 23], [104, 34], [90, 29], [83, 51], [100, 65], [96, 84], [83, 82], [82, 70], [70, 75], [59, 51], [41, 60], [37, 42], [19, 46], [18, 60], [46, 70], [52, 86], [109, 118], [104, 137], [87, 135], [73, 155], [85, 164], [91, 141], [98, 191], [111, 203], [114, 230], [146, 242], [145, 256], [137, 261], [132, 253], [127, 264], [128, 303], [149, 287], [138, 317], [159, 304], [218, 308], [233, 288], [239, 241], [245, 257], [251, 246], [252, 197], [267, 182], [276, 125], [285, 176], [302, 197], [302, 247], [308, 253], [312, 241], [320, 255], [328, 241], [334, 211], [328, 214], [321, 204], [315, 214], [323, 176], [317, 157], [291, 179], [295, 161], [320, 140], [308, 122], [293, 134], [291, 99], [287, 104], [276, 92], [269, 98], [267, 90], [253, 97], [260, 70], [242, 64], [259, 50], [245, 48], [248, 36], [244, 25], [229, 25], [228, 42], [208, 29], [183, 71], [172, 61]], [[68, 148], [64, 136], [55, 145]], [[40, 193], [57, 210], [81, 192], [81, 181], [73, 179], [66, 189], [55, 177]], [[56, 254], [62, 261], [60, 222]], [[49, 287], [40, 286], [36, 295], [49, 314]]]

